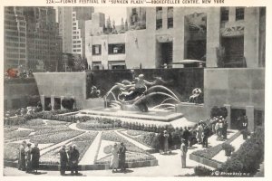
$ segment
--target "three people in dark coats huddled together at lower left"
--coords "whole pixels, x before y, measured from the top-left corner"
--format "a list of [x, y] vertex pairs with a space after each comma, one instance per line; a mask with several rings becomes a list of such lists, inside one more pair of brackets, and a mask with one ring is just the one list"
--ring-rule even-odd
[[38, 144], [34, 144], [31, 148], [31, 143], [23, 141], [19, 148], [18, 169], [26, 173], [37, 173], [39, 168], [40, 149]]

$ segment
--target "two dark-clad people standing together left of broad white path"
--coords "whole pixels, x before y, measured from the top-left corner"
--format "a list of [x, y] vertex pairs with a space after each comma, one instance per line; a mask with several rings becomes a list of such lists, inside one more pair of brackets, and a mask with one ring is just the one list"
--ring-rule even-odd
[[79, 157], [80, 153], [77, 150], [76, 146], [70, 146], [69, 150], [66, 151], [66, 146], [63, 145], [63, 147], [59, 151], [60, 153], [60, 162], [61, 162], [61, 168], [60, 172], [62, 176], [65, 176], [65, 171], [69, 170], [71, 171], [71, 175], [73, 176], [78, 175], [78, 163], [79, 163]]

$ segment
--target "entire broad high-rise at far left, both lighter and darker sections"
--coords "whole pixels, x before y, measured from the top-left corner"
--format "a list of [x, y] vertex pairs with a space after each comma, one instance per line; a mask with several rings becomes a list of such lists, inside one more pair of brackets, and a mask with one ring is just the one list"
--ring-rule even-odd
[[56, 71], [61, 48], [53, 7], [5, 7], [5, 70]]

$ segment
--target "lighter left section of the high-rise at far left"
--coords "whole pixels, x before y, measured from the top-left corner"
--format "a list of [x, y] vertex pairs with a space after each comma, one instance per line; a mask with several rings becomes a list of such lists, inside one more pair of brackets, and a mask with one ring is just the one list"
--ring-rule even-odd
[[9, 68], [26, 66], [26, 23], [23, 7], [5, 7], [4, 66]]

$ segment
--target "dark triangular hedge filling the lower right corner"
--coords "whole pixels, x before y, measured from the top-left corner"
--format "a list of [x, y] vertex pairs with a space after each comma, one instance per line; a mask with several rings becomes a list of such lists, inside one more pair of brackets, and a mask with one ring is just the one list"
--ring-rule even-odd
[[219, 169], [254, 175], [264, 160], [264, 129], [259, 128]]

